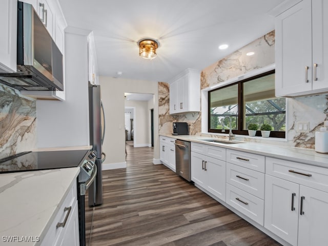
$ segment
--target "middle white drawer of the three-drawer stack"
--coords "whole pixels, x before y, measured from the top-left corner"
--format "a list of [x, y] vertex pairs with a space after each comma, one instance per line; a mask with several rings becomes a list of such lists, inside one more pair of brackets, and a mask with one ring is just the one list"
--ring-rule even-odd
[[227, 163], [227, 182], [264, 199], [264, 173]]

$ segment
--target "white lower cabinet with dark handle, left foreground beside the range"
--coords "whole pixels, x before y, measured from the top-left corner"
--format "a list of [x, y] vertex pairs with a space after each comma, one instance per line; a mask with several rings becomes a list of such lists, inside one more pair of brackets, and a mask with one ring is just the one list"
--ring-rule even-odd
[[73, 187], [61, 204], [46, 235], [41, 242], [42, 246], [78, 246], [78, 207], [77, 186]]

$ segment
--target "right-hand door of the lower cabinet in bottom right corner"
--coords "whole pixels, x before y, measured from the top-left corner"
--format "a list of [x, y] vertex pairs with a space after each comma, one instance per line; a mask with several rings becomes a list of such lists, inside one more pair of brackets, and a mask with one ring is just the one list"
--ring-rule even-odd
[[328, 193], [300, 186], [298, 246], [326, 245], [328, 242]]

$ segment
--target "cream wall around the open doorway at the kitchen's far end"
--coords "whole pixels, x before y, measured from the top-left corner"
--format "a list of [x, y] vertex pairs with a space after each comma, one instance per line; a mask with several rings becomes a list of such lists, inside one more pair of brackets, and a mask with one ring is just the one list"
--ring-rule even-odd
[[[154, 94], [154, 132], [158, 133], [157, 82], [124, 78], [99, 77], [101, 99], [106, 114], [106, 133], [103, 151], [107, 154], [104, 169], [126, 167], [125, 161], [125, 98], [124, 93]], [[159, 160], [158, 134], [154, 136], [154, 163]]]

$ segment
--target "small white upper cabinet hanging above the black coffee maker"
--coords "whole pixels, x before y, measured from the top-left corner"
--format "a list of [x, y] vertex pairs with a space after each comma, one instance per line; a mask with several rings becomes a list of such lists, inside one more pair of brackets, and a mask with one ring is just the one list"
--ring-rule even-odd
[[170, 114], [200, 111], [200, 73], [193, 69], [170, 81]]

